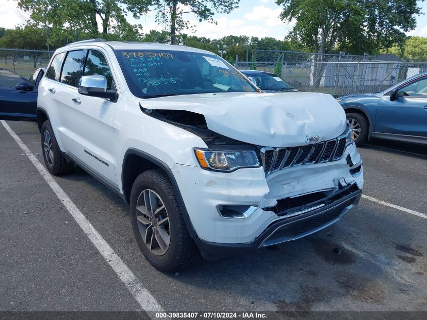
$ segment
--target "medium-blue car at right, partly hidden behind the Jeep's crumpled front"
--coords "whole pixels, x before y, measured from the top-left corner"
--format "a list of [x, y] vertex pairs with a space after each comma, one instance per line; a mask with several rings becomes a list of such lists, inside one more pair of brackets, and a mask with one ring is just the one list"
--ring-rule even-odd
[[427, 72], [375, 94], [338, 98], [357, 146], [370, 137], [427, 145]]

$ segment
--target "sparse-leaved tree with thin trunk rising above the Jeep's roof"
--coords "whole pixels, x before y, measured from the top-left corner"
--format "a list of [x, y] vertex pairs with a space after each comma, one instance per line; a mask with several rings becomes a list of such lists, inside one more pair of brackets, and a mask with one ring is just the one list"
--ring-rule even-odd
[[[131, 0], [129, 0], [131, 1]], [[138, 0], [133, 0], [137, 3]], [[215, 11], [218, 13], [230, 13], [237, 8], [240, 0], [153, 0], [156, 11], [156, 21], [159, 24], [167, 25], [170, 30], [170, 42], [176, 44], [176, 35], [182, 29], [189, 29], [191, 25], [184, 18], [187, 13], [196, 15], [199, 21], [213, 20]]]

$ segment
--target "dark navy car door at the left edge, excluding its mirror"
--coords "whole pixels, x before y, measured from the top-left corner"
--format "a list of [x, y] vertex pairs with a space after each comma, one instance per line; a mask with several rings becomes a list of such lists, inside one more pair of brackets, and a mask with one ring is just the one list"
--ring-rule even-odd
[[17, 90], [15, 85], [29, 82], [20, 75], [0, 69], [0, 120], [34, 120], [37, 88]]

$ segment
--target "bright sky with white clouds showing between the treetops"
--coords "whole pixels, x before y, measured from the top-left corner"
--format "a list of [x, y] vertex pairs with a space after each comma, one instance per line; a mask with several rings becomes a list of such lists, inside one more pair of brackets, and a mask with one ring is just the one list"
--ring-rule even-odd
[[[427, 1], [417, 1], [421, 12], [427, 14]], [[274, 0], [241, 0], [238, 9], [230, 14], [216, 14], [214, 20], [217, 25], [209, 22], [199, 22], [193, 14], [186, 14], [185, 18], [195, 27], [195, 35], [218, 39], [226, 35], [247, 35], [257, 37], [274, 37], [283, 39], [292, 30], [293, 22], [284, 23], [278, 16], [280, 7]], [[23, 24], [28, 19], [28, 14], [16, 8], [14, 0], [0, 0], [0, 27], [14, 28]], [[408, 35], [427, 37], [427, 15], [417, 18], [417, 27], [409, 31]], [[161, 31], [163, 26], [158, 26], [154, 20], [154, 13], [149, 13], [138, 20], [129, 16], [130, 23], [142, 24], [143, 31], [151, 29]], [[186, 32], [192, 34], [191, 32]]]

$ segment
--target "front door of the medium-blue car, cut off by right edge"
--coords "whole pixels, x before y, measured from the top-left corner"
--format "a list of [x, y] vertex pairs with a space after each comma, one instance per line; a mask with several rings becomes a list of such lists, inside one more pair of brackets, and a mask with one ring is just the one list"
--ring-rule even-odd
[[375, 121], [378, 138], [427, 143], [427, 76], [398, 89], [396, 100], [381, 97]]

